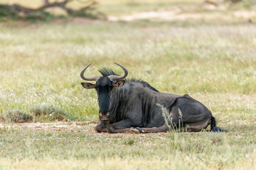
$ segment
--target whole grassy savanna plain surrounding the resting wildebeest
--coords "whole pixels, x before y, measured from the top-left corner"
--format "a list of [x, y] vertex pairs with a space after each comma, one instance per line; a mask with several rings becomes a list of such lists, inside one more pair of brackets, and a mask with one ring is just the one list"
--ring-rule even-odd
[[[200, 3], [100, 1], [99, 8], [118, 17]], [[193, 10], [213, 17], [171, 21], [0, 23], [0, 169], [256, 169], [256, 27], [233, 16], [248, 10]], [[122, 74], [117, 62], [128, 78], [191, 95], [228, 132], [94, 132], [97, 94], [80, 85], [90, 62], [88, 77], [101, 67]], [[34, 116], [43, 109], [53, 115]], [[5, 119], [12, 113], [34, 117], [14, 123]]]

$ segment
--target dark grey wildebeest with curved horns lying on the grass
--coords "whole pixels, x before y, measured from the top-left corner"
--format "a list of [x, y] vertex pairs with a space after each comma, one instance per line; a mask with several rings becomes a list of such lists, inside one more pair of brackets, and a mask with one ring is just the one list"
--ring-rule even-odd
[[[100, 124], [95, 127], [97, 132], [167, 132], [166, 121], [174, 129], [179, 126], [179, 130], [189, 132], [201, 131], [208, 125], [212, 132], [223, 132], [216, 127], [212, 113], [199, 101], [187, 94], [160, 93], [142, 80], [123, 80], [128, 71], [121, 64], [117, 65], [122, 67], [124, 75], [102, 68], [99, 70], [102, 77], [85, 77], [85, 70], [90, 64], [80, 73], [82, 79], [96, 81], [96, 84], [82, 83], [82, 86], [97, 91], [100, 106]], [[166, 121], [160, 106], [169, 113]]]

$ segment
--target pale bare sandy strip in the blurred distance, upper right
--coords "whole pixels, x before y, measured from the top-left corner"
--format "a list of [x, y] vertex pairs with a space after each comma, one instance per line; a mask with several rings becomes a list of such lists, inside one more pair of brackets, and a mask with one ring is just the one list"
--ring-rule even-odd
[[[229, 11], [223, 13], [221, 11], [210, 11], [210, 12], [197, 12], [197, 11], [182, 11], [175, 9], [173, 11], [146, 11], [140, 13], [131, 13], [123, 16], [108, 16], [107, 21], [118, 22], [118, 21], [139, 21], [139, 20], [150, 20], [150, 21], [232, 21], [233, 19], [241, 19], [245, 21], [256, 21], [256, 11]], [[64, 23], [63, 19], [56, 20], [55, 23]], [[88, 18], [75, 17], [70, 19], [70, 22], [77, 24], [95, 24], [104, 21], [92, 20]]]

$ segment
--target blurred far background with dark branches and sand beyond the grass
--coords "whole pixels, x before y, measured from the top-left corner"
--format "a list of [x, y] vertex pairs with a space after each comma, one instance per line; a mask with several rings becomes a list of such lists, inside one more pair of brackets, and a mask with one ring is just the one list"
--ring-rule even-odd
[[[252, 22], [255, 18], [253, 0], [1, 0], [1, 20], [9, 18], [30, 18], [38, 20], [80, 16], [84, 18], [105, 18], [107, 21], [201, 21]], [[9, 5], [9, 6], [4, 6]], [[15, 6], [18, 5], [18, 6]], [[23, 10], [22, 8], [23, 7]], [[43, 7], [43, 8], [42, 8]], [[41, 10], [38, 10], [41, 8]], [[83, 11], [80, 11], [84, 8]], [[28, 11], [34, 10], [34, 11]]]

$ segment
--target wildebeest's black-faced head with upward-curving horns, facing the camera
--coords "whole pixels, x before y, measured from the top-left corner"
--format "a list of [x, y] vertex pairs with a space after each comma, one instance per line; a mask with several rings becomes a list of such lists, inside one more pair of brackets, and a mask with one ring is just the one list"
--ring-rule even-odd
[[[92, 63], [90, 63], [92, 64]], [[124, 81], [118, 81], [119, 79], [124, 79], [128, 75], [128, 71], [125, 67], [123, 67], [121, 64], [115, 64], [119, 65], [119, 67], [122, 67], [124, 70], [124, 75], [118, 76], [118, 75], [110, 75], [106, 77], [100, 77], [100, 76], [95, 76], [95, 77], [85, 77], [84, 73], [87, 67], [90, 66], [88, 64], [84, 69], [82, 69], [82, 72], [80, 73], [80, 77], [86, 81], [96, 81], [96, 84], [90, 84], [90, 83], [81, 83], [82, 86], [85, 89], [96, 89], [97, 91], [97, 96], [98, 96], [98, 101], [99, 101], [99, 115], [100, 115], [100, 120], [108, 120], [110, 118], [110, 92], [112, 91], [113, 88], [116, 87], [121, 87], [124, 85]]]

